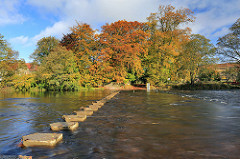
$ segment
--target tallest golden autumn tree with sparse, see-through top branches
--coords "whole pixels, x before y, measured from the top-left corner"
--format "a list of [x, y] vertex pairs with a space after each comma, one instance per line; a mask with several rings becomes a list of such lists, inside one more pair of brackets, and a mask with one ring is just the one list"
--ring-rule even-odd
[[189, 9], [178, 9], [171, 5], [160, 6], [157, 13], [148, 18], [151, 38], [149, 40], [149, 58], [146, 71], [148, 81], [153, 84], [176, 80], [178, 69], [176, 57], [182, 53], [188, 41], [189, 28], [181, 29], [194, 21]]

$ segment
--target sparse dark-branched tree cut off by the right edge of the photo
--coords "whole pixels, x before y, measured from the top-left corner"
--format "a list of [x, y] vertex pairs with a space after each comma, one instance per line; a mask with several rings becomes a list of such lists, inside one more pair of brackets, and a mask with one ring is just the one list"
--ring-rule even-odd
[[240, 18], [230, 27], [230, 33], [218, 39], [218, 54], [223, 61], [240, 63]]

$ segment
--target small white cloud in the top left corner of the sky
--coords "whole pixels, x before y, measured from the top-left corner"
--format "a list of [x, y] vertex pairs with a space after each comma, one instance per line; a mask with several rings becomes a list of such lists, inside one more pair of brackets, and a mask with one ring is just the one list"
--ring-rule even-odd
[[19, 0], [0, 0], [0, 25], [23, 23], [26, 19], [18, 12]]

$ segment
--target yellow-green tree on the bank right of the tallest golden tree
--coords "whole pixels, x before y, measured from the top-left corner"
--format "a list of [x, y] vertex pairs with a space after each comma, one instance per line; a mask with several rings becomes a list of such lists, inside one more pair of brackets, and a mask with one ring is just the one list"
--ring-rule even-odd
[[182, 68], [187, 70], [190, 82], [193, 85], [201, 65], [209, 63], [215, 53], [215, 47], [210, 40], [200, 34], [191, 35], [185, 45]]

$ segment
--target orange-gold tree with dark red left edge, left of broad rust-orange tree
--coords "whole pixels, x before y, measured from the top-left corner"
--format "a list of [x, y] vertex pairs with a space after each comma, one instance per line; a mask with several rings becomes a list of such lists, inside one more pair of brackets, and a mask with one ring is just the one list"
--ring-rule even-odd
[[86, 23], [78, 23], [71, 28], [71, 33], [64, 35], [61, 45], [73, 51], [77, 67], [86, 86], [100, 86], [108, 82], [102, 61], [101, 47], [97, 30]]

